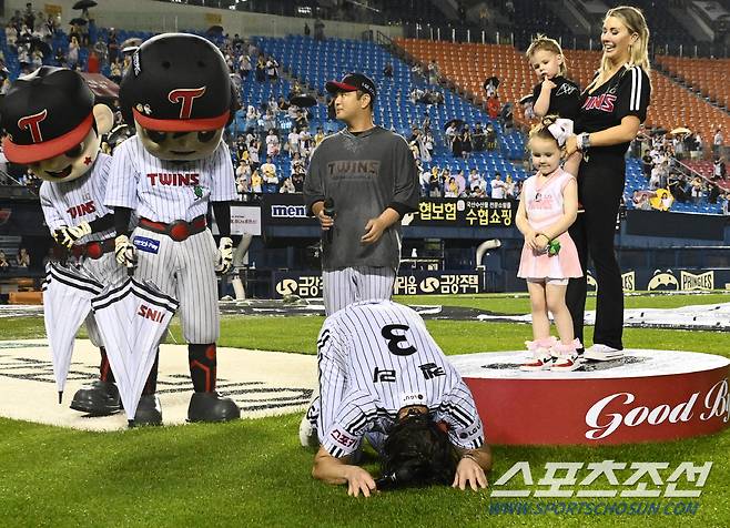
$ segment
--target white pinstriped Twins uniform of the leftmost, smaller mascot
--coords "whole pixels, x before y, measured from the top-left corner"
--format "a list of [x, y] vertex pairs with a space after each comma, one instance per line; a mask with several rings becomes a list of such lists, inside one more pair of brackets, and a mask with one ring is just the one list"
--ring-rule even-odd
[[[77, 226], [81, 222], [91, 223], [97, 219], [113, 214], [113, 211], [104, 205], [104, 192], [111, 161], [111, 156], [100, 152], [91, 170], [81, 177], [60, 183], [44, 181], [41, 184], [41, 209], [51, 233], [64, 225]], [[114, 229], [110, 227], [85, 235], [75, 241], [74, 245], [82, 246], [89, 242], [103, 241], [113, 236]], [[81, 258], [80, 266], [82, 273], [79, 274], [79, 278], [81, 281], [87, 280], [84, 275], [93, 277], [101, 284], [114, 284], [124, 280], [124, 270], [116, 264], [113, 251], [103, 254], [100, 258]], [[73, 267], [70, 267], [69, 271], [73, 271]], [[48, 324], [58, 323], [60, 322], [48, 322]], [[93, 314], [89, 314], [85, 324], [94, 346], [103, 346]]]

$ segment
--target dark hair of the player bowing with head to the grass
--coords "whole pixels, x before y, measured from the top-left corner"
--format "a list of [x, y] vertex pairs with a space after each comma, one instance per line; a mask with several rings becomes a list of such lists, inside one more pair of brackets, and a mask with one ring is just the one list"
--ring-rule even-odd
[[383, 475], [397, 486], [450, 485], [457, 461], [448, 435], [426, 414], [398, 422], [383, 445]]

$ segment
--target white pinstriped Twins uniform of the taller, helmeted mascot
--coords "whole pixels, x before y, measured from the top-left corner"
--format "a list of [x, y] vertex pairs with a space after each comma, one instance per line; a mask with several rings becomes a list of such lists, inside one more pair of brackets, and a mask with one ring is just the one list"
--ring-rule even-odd
[[[152, 156], [134, 135], [114, 151], [105, 204], [169, 224], [205, 216], [209, 202], [235, 197], [233, 163], [225, 143], [221, 142], [209, 158], [172, 162]], [[214, 343], [220, 333], [214, 270], [217, 248], [210, 230], [175, 242], [139, 226], [131, 241], [139, 260], [135, 278], [152, 281], [180, 301], [185, 341]]]

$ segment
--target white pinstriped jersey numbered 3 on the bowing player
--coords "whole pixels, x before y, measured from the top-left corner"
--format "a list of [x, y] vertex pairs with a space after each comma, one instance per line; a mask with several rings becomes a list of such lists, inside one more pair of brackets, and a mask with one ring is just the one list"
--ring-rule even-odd
[[354, 453], [364, 436], [381, 449], [398, 409], [427, 406], [453, 445], [484, 444], [472, 393], [420, 316], [391, 301], [354, 303], [325, 321], [317, 341], [321, 396], [307, 413], [332, 456]]

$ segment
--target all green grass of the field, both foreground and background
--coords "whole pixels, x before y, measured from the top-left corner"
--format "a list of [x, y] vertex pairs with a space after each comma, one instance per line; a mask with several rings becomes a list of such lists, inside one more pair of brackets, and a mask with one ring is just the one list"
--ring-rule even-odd
[[[668, 307], [675, 303], [722, 299], [727, 301], [728, 296], [628, 297], [627, 306], [646, 302], [649, 304], [643, 306]], [[413, 304], [447, 301], [408, 298]], [[497, 309], [489, 306], [496, 301], [479, 296], [454, 302]], [[509, 302], [514, 302], [516, 313], [525, 312], [520, 306], [526, 306], [527, 299]], [[220, 344], [312, 354], [322, 321], [322, 317], [224, 317]], [[518, 324], [428, 321], [427, 326], [449, 354], [521, 348], [523, 342], [530, 337], [530, 327]], [[43, 334], [40, 317], [2, 319], [0, 325], [2, 339], [43, 337]], [[173, 336], [181, 342], [178, 326], [173, 327]], [[629, 347], [730, 355], [729, 333], [627, 328], [625, 337]], [[298, 447], [298, 415], [287, 415], [222, 425], [88, 433], [0, 419], [0, 520], [12, 527], [730, 526], [728, 430], [690, 440], [619, 447], [495, 446], [493, 481], [521, 460], [530, 463], [536, 481], [543, 477], [548, 461], [668, 461], [672, 468], [683, 460], [714, 464], [702, 496], [685, 499], [700, 502], [693, 517], [527, 517], [489, 515], [489, 505], [498, 500], [490, 499], [488, 491], [430, 488], [384, 493], [369, 500], [352, 499], [343, 487], [312, 479], [312, 454]], [[376, 469], [372, 461], [367, 467]], [[586, 475], [586, 471], [579, 474]], [[629, 475], [627, 471], [620, 477]], [[518, 487], [519, 481], [513, 483]], [[538, 499], [528, 500], [537, 504]]]

